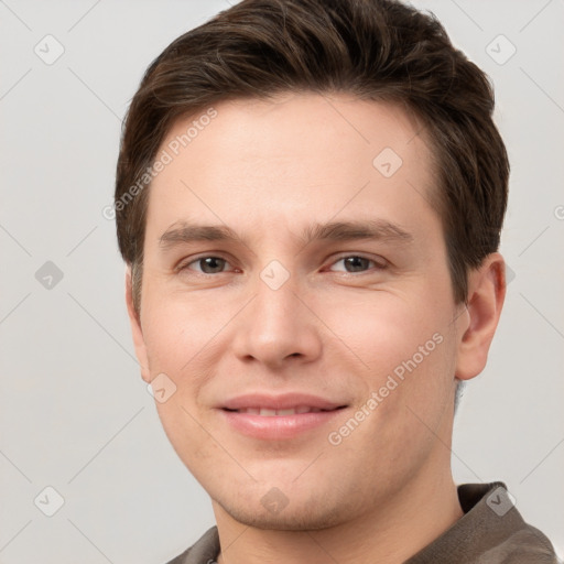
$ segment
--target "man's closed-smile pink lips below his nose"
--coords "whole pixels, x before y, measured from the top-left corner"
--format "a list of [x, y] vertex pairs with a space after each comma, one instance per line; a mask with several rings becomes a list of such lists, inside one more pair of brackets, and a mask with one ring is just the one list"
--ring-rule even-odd
[[[271, 416], [228, 411], [249, 408], [278, 411], [304, 405], [326, 411]], [[285, 393], [282, 395], [253, 393], [226, 401], [219, 406], [219, 412], [231, 429], [243, 435], [263, 441], [280, 441], [294, 438], [306, 431], [327, 424], [337, 414], [341, 413], [344, 408], [346, 405], [343, 403], [304, 393]]]

